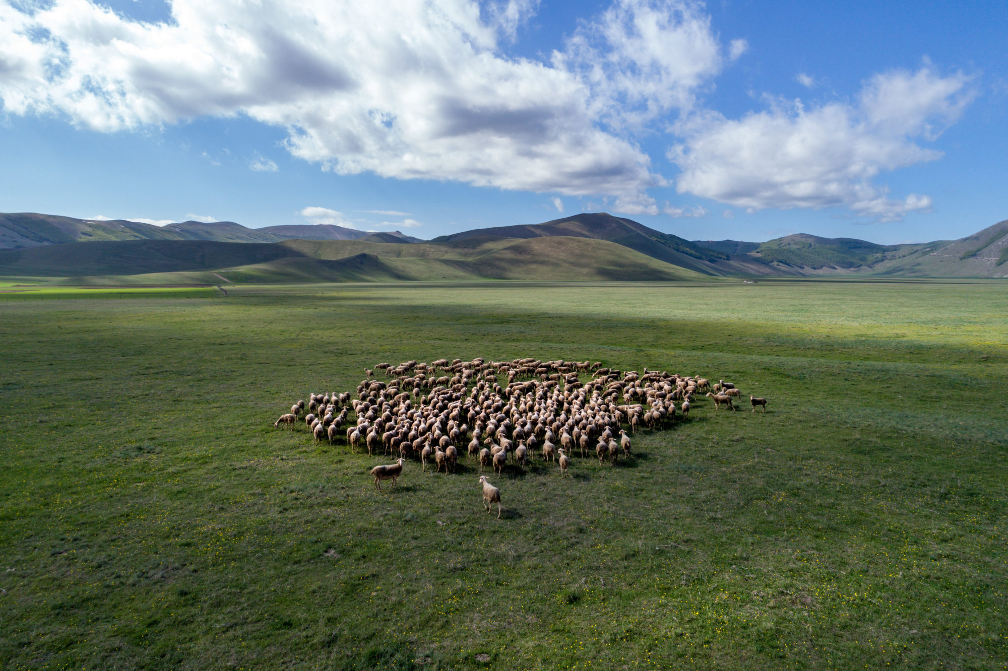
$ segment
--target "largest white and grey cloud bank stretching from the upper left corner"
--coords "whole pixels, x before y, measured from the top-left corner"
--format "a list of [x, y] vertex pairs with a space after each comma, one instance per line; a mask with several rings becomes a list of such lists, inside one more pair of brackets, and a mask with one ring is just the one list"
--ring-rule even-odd
[[648, 207], [664, 180], [607, 124], [692, 105], [724, 50], [689, 0], [616, 0], [549, 61], [498, 44], [536, 0], [168, 6], [170, 20], [150, 23], [87, 0], [0, 3], [5, 110], [105, 132], [244, 115], [339, 174]]

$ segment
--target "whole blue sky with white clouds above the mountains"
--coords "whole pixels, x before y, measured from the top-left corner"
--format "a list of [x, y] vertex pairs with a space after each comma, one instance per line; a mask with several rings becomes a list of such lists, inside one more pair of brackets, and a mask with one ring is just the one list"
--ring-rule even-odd
[[1008, 5], [0, 0], [0, 211], [421, 238], [1008, 218]]

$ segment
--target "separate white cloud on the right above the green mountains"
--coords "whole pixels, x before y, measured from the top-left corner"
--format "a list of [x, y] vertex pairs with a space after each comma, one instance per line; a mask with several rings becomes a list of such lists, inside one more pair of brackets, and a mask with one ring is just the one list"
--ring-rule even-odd
[[969, 81], [925, 65], [873, 77], [856, 104], [777, 103], [738, 120], [697, 114], [678, 125], [685, 141], [668, 154], [682, 169], [677, 190], [749, 211], [843, 207], [880, 221], [925, 212], [928, 196], [890, 198], [873, 180], [941, 156], [916, 140], [959, 118], [972, 99]]

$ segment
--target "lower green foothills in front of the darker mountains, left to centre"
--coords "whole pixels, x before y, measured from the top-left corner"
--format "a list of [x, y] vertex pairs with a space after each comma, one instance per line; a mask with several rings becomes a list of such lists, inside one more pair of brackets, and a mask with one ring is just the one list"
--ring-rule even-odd
[[365, 280], [684, 280], [704, 275], [590, 238], [470, 238], [459, 244], [125, 241], [0, 251], [0, 275], [62, 284]]

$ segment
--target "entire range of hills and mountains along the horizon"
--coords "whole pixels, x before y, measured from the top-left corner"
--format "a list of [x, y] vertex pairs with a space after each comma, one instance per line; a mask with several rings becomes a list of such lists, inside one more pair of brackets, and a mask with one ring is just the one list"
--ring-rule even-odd
[[[6, 249], [3, 249], [6, 248]], [[687, 280], [731, 276], [1008, 277], [1008, 221], [972, 236], [878, 245], [797, 234], [689, 241], [606, 213], [431, 241], [339, 226], [164, 227], [0, 214], [0, 275], [60, 283], [349, 280]]]

